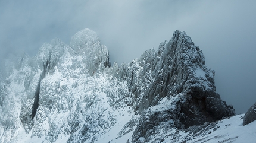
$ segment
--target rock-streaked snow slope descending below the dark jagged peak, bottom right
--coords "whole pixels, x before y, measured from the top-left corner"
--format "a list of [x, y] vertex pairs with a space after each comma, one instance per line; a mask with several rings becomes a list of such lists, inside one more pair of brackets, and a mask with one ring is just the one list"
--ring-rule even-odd
[[[160, 131], [158, 136], [148, 142], [256, 142], [256, 121], [242, 126], [243, 116], [244, 114], [241, 114], [201, 126], [192, 126], [185, 131], [179, 129]], [[141, 140], [145, 141], [143, 138]], [[126, 141], [127, 136], [124, 136], [111, 142]]]

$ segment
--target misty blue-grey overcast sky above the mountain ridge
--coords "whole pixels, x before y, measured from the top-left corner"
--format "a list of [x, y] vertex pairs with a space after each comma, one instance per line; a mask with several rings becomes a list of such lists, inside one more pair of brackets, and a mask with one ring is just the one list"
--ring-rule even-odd
[[245, 113], [256, 102], [256, 1], [0, 1], [0, 59], [35, 56], [55, 37], [69, 44], [84, 28], [98, 33], [119, 64], [185, 31], [216, 71], [217, 93]]

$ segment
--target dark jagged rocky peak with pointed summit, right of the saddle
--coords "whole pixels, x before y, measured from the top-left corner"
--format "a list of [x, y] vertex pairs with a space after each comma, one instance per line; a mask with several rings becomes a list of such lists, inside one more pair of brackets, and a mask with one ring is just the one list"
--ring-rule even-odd
[[[135, 113], [142, 115], [133, 142], [166, 120], [188, 128], [235, 115], [233, 106], [216, 93], [214, 71], [205, 66], [202, 51], [185, 32], [175, 31], [156, 52], [146, 51], [121, 71], [133, 94]], [[160, 109], [151, 110], [155, 106]]]

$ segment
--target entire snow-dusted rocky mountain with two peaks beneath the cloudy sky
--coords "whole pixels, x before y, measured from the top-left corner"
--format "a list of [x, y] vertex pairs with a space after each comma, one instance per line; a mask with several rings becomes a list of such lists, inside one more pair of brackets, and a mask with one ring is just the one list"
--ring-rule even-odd
[[54, 39], [34, 57], [10, 57], [1, 79], [1, 142], [256, 139], [255, 122], [242, 126], [243, 115], [221, 100], [214, 71], [185, 32], [112, 65], [107, 47], [85, 29], [69, 45]]

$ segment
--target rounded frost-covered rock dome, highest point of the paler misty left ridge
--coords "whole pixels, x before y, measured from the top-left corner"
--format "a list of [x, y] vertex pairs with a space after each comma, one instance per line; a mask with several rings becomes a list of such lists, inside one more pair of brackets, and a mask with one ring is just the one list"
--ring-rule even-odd
[[77, 56], [77, 64], [85, 64], [89, 75], [95, 74], [100, 66], [107, 67], [110, 64], [108, 49], [101, 45], [95, 31], [86, 28], [77, 32], [72, 36], [69, 46], [71, 55]]

